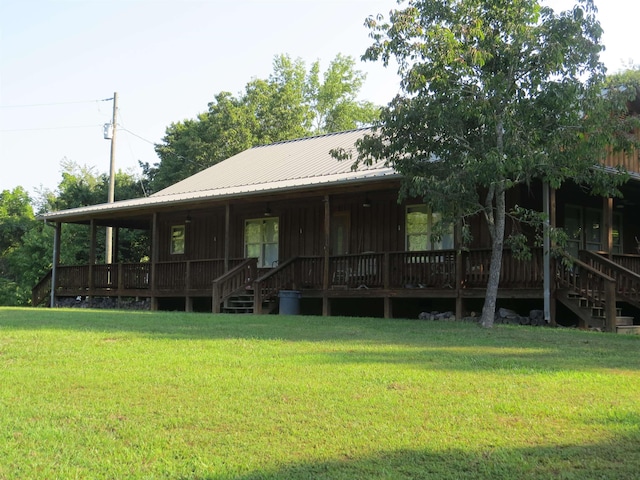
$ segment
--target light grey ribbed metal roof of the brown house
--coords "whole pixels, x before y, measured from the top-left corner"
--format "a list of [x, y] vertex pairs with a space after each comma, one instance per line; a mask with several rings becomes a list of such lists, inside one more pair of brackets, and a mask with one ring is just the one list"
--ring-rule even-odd
[[43, 218], [55, 221], [98, 213], [124, 213], [159, 205], [363, 183], [397, 176], [384, 162], [354, 171], [351, 161], [338, 161], [330, 154], [338, 148], [355, 154], [356, 141], [368, 133], [371, 129], [364, 128], [253, 147], [149, 197], [50, 212]]

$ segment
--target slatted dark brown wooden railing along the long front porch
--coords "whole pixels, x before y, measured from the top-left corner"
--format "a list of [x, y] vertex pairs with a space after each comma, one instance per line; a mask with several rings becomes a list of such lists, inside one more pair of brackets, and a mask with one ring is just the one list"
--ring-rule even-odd
[[[460, 255], [460, 256], [459, 256]], [[455, 250], [422, 252], [386, 252], [338, 255], [329, 258], [330, 289], [456, 289], [484, 288], [489, 276], [491, 251]], [[280, 290], [322, 290], [324, 257], [298, 257], [282, 263], [257, 278], [257, 267], [250, 276], [240, 278], [235, 267], [246, 267], [245, 259], [230, 262], [239, 278], [231, 280], [224, 273], [222, 259], [159, 262], [155, 264], [152, 291], [151, 263], [59, 266], [56, 292], [60, 295], [207, 295], [218, 279], [218, 297], [240, 288], [247, 278], [259, 280], [255, 288], [258, 300], [274, 297]], [[242, 267], [242, 268], [244, 268]], [[240, 269], [240, 271], [242, 270]], [[461, 270], [458, 271], [457, 269]], [[234, 273], [234, 274], [235, 274]], [[231, 272], [229, 272], [231, 274]], [[230, 282], [228, 285], [225, 282]], [[236, 283], [234, 283], [236, 282]], [[46, 283], [46, 282], [45, 282]], [[539, 288], [543, 283], [542, 249], [532, 251], [531, 260], [517, 259], [510, 250], [503, 252], [501, 288]], [[44, 284], [33, 292], [34, 299], [46, 293]], [[148, 293], [145, 293], [148, 292]], [[262, 297], [262, 298], [260, 298]], [[41, 301], [41, 300], [40, 300]], [[218, 307], [219, 308], [219, 307]]]

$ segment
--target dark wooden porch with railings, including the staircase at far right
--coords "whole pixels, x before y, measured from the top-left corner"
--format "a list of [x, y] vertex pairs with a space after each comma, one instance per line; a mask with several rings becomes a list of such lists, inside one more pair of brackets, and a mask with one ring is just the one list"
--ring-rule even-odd
[[[251, 299], [247, 311], [259, 314], [277, 308], [280, 292], [294, 290], [303, 299], [321, 301], [323, 315], [331, 315], [334, 300], [378, 299], [380, 313], [391, 318], [399, 299], [446, 299], [460, 318], [466, 299], [484, 298], [490, 255], [488, 249], [476, 249], [305, 256], [270, 269], [258, 268], [253, 258], [233, 259], [226, 272], [222, 259], [59, 266], [55, 298], [141, 297], [151, 299], [152, 308], [158, 299], [180, 298], [186, 311], [193, 311], [199, 299], [218, 313], [229, 299], [243, 295]], [[578, 316], [579, 326], [638, 329], [633, 318], [620, 323], [628, 318], [620, 305], [640, 309], [640, 255], [581, 251], [580, 258], [553, 264], [551, 297]], [[542, 301], [543, 280], [541, 249], [534, 249], [529, 260], [503, 252], [500, 299]], [[33, 305], [49, 300], [51, 284], [49, 274], [34, 288]]]

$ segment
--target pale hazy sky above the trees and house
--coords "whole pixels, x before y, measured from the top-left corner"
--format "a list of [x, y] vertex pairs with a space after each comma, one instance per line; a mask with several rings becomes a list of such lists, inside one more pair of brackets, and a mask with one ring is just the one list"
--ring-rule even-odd
[[[570, 0], [547, 0], [556, 9]], [[609, 72], [640, 63], [630, 32], [638, 0], [595, 0]], [[393, 67], [361, 62], [364, 21], [395, 0], [0, 0], [0, 192], [55, 190], [62, 162], [107, 173], [103, 125], [118, 94], [116, 169], [140, 175], [171, 123], [222, 91], [267, 78], [280, 54], [321, 70], [350, 55], [366, 73], [360, 99], [387, 104]], [[635, 47], [635, 48], [634, 48]], [[634, 57], [635, 55], [635, 57]], [[106, 199], [105, 199], [106, 200]]]

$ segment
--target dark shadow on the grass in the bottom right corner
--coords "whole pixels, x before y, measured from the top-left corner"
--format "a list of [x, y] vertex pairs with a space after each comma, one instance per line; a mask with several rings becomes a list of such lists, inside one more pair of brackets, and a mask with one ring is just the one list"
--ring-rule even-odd
[[640, 471], [640, 423], [638, 418], [635, 421], [635, 433], [623, 433], [596, 444], [491, 447], [473, 451], [382, 451], [368, 457], [301, 462], [232, 477], [201, 477], [201, 480], [632, 480], [638, 478]]

